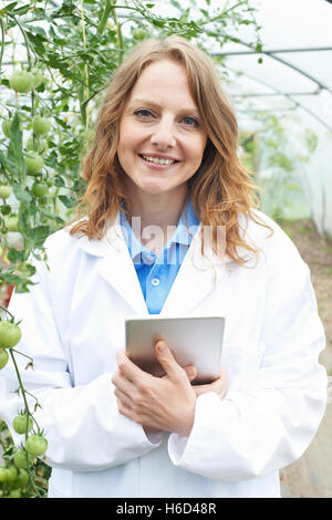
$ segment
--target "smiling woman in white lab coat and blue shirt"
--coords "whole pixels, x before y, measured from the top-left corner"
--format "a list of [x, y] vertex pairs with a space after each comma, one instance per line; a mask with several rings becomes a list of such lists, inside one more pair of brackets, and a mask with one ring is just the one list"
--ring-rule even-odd
[[[324, 332], [307, 264], [253, 209], [237, 143], [210, 60], [185, 40], [146, 40], [114, 74], [84, 160], [87, 215], [48, 238], [49, 270], [38, 262], [10, 305], [34, 358], [50, 497], [280, 497], [279, 469], [310, 445]], [[163, 342], [166, 376], [134, 365], [124, 320], [148, 313], [224, 315], [219, 378], [193, 386]], [[20, 401], [3, 372], [10, 425]]]

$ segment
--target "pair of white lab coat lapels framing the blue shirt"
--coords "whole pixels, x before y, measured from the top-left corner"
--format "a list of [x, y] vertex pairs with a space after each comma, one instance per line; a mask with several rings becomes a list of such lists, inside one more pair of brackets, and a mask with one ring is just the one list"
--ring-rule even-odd
[[[210, 247], [201, 253], [201, 223], [193, 237], [187, 254], [170, 288], [160, 315], [184, 314], [193, 311], [214, 290], [220, 277], [226, 274], [227, 256], [220, 260]], [[148, 314], [135, 266], [122, 232], [120, 212], [101, 240], [77, 240], [79, 247], [89, 254], [100, 257], [101, 275], [125, 299], [136, 314]]]

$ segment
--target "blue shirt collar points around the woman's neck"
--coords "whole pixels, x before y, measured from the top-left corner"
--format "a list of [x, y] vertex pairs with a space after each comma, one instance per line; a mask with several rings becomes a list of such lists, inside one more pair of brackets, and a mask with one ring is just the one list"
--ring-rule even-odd
[[[126, 215], [121, 211], [120, 223], [123, 230], [124, 238], [127, 242], [132, 259], [136, 258], [137, 254], [143, 251], [148, 251], [142, 242], [136, 238], [132, 230], [132, 227], [126, 218]], [[191, 206], [191, 200], [188, 198], [179, 217], [177, 227], [165, 248], [170, 248], [172, 243], [181, 243], [189, 247], [194, 235], [199, 227], [199, 219], [196, 217]]]

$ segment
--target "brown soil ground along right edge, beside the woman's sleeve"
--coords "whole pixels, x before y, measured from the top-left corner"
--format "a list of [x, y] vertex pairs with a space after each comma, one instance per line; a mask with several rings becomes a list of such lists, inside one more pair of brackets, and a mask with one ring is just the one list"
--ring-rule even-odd
[[320, 362], [329, 375], [329, 398], [323, 420], [303, 456], [280, 471], [283, 498], [332, 498], [332, 239], [320, 236], [312, 221], [281, 225], [309, 266], [326, 347]]

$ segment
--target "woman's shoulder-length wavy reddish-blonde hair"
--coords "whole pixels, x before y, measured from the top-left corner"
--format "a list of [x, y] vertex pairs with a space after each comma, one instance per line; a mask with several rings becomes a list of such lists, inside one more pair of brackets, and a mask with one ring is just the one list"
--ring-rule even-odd
[[258, 187], [251, 179], [253, 174], [238, 158], [238, 124], [216, 67], [205, 52], [176, 35], [143, 41], [131, 51], [112, 76], [97, 114], [94, 142], [83, 158], [83, 176], [87, 187], [77, 207], [77, 215], [87, 218], [74, 223], [70, 233], [81, 232], [90, 240], [103, 238], [124, 202], [125, 212], [127, 217], [131, 216], [122, 183], [125, 174], [116, 154], [120, 121], [143, 70], [165, 59], [185, 67], [190, 93], [208, 133], [200, 167], [187, 181], [193, 209], [203, 226], [211, 227], [214, 251], [218, 250], [218, 226], [222, 226], [226, 238], [224, 254], [245, 266], [248, 260], [239, 256], [238, 248], [257, 256], [259, 250], [241, 236], [239, 214], [246, 217], [247, 223], [251, 218], [272, 229], [252, 212], [259, 205]]

